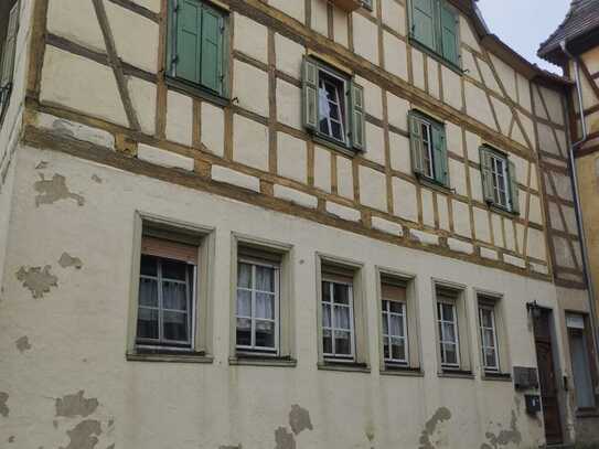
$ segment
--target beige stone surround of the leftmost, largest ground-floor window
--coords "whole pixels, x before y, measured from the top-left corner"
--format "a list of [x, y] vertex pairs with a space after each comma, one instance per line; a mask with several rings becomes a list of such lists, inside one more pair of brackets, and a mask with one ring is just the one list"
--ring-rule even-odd
[[[197, 267], [193, 303], [192, 345], [184, 349], [145, 348], [137, 344], [139, 309], [139, 279], [141, 267], [141, 243], [143, 236], [167, 238], [197, 247]], [[129, 327], [127, 334], [127, 360], [129, 361], [193, 361], [212, 363], [213, 260], [215, 253], [214, 227], [173, 220], [153, 213], [136, 211], [133, 216], [132, 261], [129, 288]]]

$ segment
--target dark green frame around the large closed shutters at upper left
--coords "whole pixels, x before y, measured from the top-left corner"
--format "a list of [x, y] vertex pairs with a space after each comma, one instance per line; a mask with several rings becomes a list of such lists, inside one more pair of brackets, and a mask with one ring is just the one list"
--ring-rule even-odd
[[216, 12], [223, 20], [223, 30], [222, 30], [222, 54], [221, 54], [221, 92], [213, 90], [212, 88], [200, 83], [193, 83], [188, 79], [184, 79], [180, 76], [177, 76], [175, 68], [173, 66], [174, 58], [173, 53], [177, 50], [177, 22], [173, 19], [175, 3], [181, 0], [168, 0], [168, 20], [165, 21], [165, 32], [164, 32], [164, 74], [165, 83], [169, 86], [172, 86], [178, 89], [190, 92], [199, 97], [202, 97], [208, 101], [212, 101], [220, 106], [227, 106], [231, 103], [231, 70], [229, 57], [232, 54], [232, 39], [231, 39], [231, 11], [223, 6], [213, 2], [212, 0], [194, 0], [197, 3], [202, 4], [202, 8], [207, 8], [213, 12]]

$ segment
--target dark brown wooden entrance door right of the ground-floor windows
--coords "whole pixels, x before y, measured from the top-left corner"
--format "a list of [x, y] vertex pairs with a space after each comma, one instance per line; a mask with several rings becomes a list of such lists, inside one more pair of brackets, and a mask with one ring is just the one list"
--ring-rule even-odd
[[547, 445], [563, 442], [561, 419], [559, 417], [559, 399], [557, 378], [553, 356], [549, 310], [537, 310], [535, 321], [535, 346], [541, 384], [541, 399], [545, 420], [545, 437]]

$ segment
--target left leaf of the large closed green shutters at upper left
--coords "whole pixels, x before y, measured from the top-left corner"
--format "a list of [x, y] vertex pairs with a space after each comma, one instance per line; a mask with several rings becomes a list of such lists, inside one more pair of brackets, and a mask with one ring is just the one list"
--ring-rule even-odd
[[174, 75], [199, 84], [202, 55], [202, 6], [194, 0], [177, 0], [174, 3], [177, 26], [175, 53], [172, 55]]

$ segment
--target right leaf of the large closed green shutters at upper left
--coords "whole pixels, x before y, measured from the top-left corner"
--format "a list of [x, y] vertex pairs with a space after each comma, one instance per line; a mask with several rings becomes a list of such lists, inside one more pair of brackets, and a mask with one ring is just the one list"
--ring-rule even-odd
[[218, 94], [223, 86], [223, 15], [202, 7], [201, 84]]

